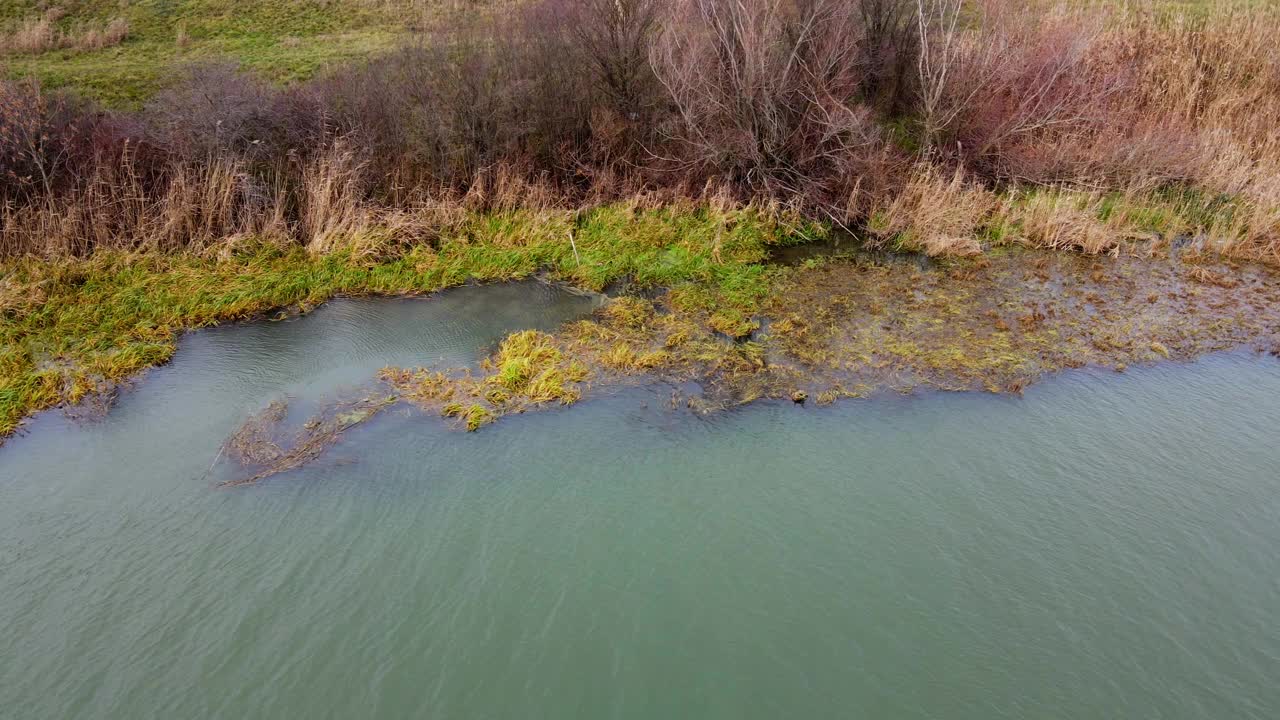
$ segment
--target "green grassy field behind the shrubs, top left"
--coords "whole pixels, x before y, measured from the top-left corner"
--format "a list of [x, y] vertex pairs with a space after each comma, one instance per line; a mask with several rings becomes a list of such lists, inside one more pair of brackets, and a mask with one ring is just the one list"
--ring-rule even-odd
[[[0, 9], [0, 31], [40, 17], [44, 3], [17, 0]], [[141, 105], [187, 63], [228, 59], [292, 82], [328, 65], [376, 55], [408, 36], [411, 24], [444, 17], [443, 3], [422, 0], [84, 0], [61, 3], [64, 31], [129, 23], [116, 47], [38, 55], [0, 51], [0, 72], [68, 87], [109, 106]], [[426, 8], [425, 10], [421, 8]], [[187, 42], [178, 44], [179, 28]]]

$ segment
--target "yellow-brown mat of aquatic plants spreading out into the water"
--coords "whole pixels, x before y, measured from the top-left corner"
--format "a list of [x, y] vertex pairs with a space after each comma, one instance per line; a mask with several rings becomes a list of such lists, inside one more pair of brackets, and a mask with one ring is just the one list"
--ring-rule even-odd
[[[273, 404], [230, 438], [250, 484], [301, 466], [402, 401], [477, 430], [593, 391], [669, 383], [672, 407], [881, 392], [1021, 392], [1068, 368], [1280, 352], [1280, 283], [1262, 266], [1005, 251], [970, 259], [854, 255], [780, 270], [739, 334], [682, 292], [616, 297], [552, 333], [508, 336], [474, 368], [385, 368], [384, 388], [335, 404], [282, 445]], [[389, 392], [387, 392], [389, 389]]]

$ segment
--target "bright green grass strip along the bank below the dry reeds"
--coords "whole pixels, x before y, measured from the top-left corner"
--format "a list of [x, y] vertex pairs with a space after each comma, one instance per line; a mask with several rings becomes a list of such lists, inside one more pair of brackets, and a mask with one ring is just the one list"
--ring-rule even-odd
[[751, 208], [614, 205], [476, 215], [448, 229], [438, 249], [378, 261], [256, 246], [224, 259], [105, 252], [0, 264], [0, 437], [33, 411], [165, 363], [183, 329], [338, 293], [431, 292], [548, 270], [593, 290], [634, 277], [685, 293], [690, 307], [748, 316], [768, 290], [759, 264], [767, 247], [823, 232], [785, 220]]

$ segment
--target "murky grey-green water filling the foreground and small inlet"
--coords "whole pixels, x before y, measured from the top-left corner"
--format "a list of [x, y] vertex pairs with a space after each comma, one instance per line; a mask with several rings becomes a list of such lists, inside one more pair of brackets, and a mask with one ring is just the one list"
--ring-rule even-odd
[[1280, 363], [698, 418], [408, 411], [216, 489], [223, 438], [590, 301], [189, 336], [0, 447], [4, 717], [1280, 716]]

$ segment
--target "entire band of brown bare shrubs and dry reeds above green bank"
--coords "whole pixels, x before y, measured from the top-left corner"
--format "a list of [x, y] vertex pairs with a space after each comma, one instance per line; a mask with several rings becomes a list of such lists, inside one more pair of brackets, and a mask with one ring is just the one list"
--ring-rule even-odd
[[538, 0], [289, 88], [192, 68], [138, 113], [5, 82], [0, 255], [325, 250], [449, 205], [714, 188], [934, 255], [993, 228], [1106, 251], [1146, 222], [1120, 196], [1165, 240], [1280, 259], [1276, 12], [1023, 10]]

